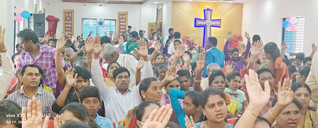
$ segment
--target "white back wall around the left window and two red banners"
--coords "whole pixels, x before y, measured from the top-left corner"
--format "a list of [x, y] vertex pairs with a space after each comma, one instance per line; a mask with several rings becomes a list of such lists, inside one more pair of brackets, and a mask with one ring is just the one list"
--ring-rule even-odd
[[74, 10], [74, 35], [82, 34], [82, 18], [117, 20], [117, 11], [128, 11], [128, 25], [133, 27], [133, 31], [138, 32], [139, 30], [145, 30], [146, 36], [148, 33], [148, 22], [156, 22], [156, 6], [113, 4], [105, 6], [86, 4], [86, 6], [84, 6], [83, 3], [50, 2], [49, 6], [46, 8], [45, 16], [52, 15], [60, 18], [56, 32], [57, 37], [60, 37], [61, 32], [63, 31], [63, 9]]

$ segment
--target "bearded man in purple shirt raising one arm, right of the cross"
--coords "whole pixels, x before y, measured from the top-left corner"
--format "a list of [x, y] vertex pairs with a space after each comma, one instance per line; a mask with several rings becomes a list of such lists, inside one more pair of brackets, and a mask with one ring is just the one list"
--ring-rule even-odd
[[[229, 56], [229, 54], [228, 54], [228, 45], [231, 43], [231, 38], [232, 38], [232, 32], [229, 31], [227, 33], [227, 42], [225, 43], [224, 48], [223, 48], [223, 52], [225, 55], [224, 60], [226, 62], [229, 61], [230, 63], [232, 63], [234, 61], [233, 62], [233, 65], [235, 66], [234, 71], [240, 72], [240, 70], [243, 69], [243, 61], [242, 61], [242, 57], [239, 56], [239, 53], [240, 53], [239, 49], [234, 48], [231, 51], [231, 56]], [[243, 57], [245, 57], [245, 55]]]

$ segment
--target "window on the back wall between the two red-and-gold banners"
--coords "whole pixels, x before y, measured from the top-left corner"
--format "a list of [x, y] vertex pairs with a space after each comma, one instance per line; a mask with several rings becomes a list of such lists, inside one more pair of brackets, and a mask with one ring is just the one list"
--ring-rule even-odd
[[110, 33], [111, 31], [115, 32], [115, 24], [116, 24], [116, 20], [115, 19], [105, 19], [105, 27], [96, 27], [96, 19], [87, 19], [87, 18], [83, 18], [82, 19], [82, 23], [83, 23], [83, 38], [86, 39], [87, 36], [90, 35], [90, 32], [92, 31], [92, 37], [95, 36], [97, 33], [99, 34], [99, 36], [104, 36], [105, 33]]

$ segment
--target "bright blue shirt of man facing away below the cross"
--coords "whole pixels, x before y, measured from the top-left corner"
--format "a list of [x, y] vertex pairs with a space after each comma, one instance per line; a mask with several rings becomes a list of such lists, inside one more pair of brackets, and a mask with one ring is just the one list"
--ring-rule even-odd
[[[224, 67], [224, 58], [225, 55], [221, 50], [218, 50], [216, 47], [210, 49], [205, 54], [206, 67], [211, 63], [217, 63], [221, 68]], [[206, 67], [202, 73], [202, 77], [206, 77]], [[221, 69], [220, 69], [221, 70]]]

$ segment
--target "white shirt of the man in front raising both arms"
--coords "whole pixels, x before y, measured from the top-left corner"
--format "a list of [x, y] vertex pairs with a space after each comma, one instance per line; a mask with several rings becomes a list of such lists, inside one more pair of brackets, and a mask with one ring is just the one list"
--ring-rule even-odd
[[[136, 66], [135, 66], [136, 68]], [[141, 73], [142, 78], [153, 77], [152, 66], [149, 61], [144, 62], [144, 67], [141, 71], [147, 71]], [[99, 60], [93, 59], [91, 64], [91, 79], [95, 87], [98, 88], [101, 97], [104, 100], [105, 105], [105, 117], [111, 121], [118, 124], [122, 121], [129, 110], [138, 106], [141, 102], [141, 97], [139, 94], [139, 86], [133, 88], [128, 88], [128, 90], [121, 94], [116, 88], [108, 87], [103, 81], [103, 73], [101, 67], [99, 66]]]

